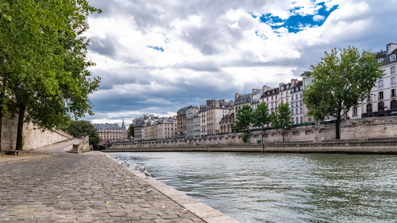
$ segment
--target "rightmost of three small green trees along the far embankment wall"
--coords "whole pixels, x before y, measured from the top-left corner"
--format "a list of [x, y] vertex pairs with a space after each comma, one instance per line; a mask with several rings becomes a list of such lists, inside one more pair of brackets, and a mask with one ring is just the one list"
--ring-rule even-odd
[[288, 103], [283, 103], [281, 102], [279, 105], [278, 112], [272, 112], [271, 116], [271, 121], [272, 121], [272, 127], [279, 129], [282, 129], [283, 132], [283, 141], [284, 141], [284, 128], [289, 128], [291, 127], [292, 121], [291, 121], [291, 110], [290, 106]]

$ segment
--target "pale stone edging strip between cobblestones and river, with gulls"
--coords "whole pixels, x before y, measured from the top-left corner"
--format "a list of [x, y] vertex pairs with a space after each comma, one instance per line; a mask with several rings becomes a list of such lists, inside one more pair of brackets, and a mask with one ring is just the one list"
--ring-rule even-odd
[[[104, 154], [104, 153], [103, 153]], [[104, 154], [104, 156], [108, 157], [109, 159], [113, 160], [117, 164], [121, 165], [120, 161], [116, 161], [115, 159], [111, 158], [109, 155]], [[169, 197], [171, 200], [175, 201], [177, 204], [181, 205], [182, 207], [188, 209], [192, 214], [196, 215], [198, 218], [206, 221], [207, 223], [217, 223], [217, 222], [225, 222], [225, 223], [239, 223], [240, 221], [202, 203], [197, 201], [196, 199], [186, 195], [185, 193], [178, 191], [154, 178], [146, 179], [146, 176], [141, 173], [140, 171], [133, 170], [121, 165], [123, 168], [128, 170], [129, 172], [133, 173], [135, 176], [139, 177], [140, 179], [144, 180], [156, 190], [163, 193], [165, 196]]]

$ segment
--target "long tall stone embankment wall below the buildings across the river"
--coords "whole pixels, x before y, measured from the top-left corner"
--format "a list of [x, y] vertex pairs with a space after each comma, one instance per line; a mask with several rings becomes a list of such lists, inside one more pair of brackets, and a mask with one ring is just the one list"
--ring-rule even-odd
[[[341, 139], [363, 139], [363, 138], [390, 138], [397, 137], [397, 117], [370, 117], [354, 120], [343, 120], [341, 122]], [[304, 141], [321, 141], [335, 139], [335, 124], [311, 125], [294, 127], [291, 129], [272, 129], [266, 131], [253, 131], [248, 135], [247, 143], [241, 139], [243, 133], [230, 133], [225, 135], [213, 135], [207, 137], [194, 137], [168, 140], [151, 140], [142, 142], [120, 142], [113, 143], [109, 150], [124, 150], [128, 148], [155, 148], [155, 147], [173, 147], [178, 150], [179, 147], [192, 147], [201, 145], [227, 145], [257, 143], [267, 144], [273, 142], [304, 142]], [[196, 144], [198, 143], [198, 145]], [[207, 150], [207, 148], [206, 148]]]

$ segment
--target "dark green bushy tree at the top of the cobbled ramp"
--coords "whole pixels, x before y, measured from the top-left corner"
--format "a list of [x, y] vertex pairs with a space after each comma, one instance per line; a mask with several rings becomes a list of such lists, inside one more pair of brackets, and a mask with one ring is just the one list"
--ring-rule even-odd
[[99, 135], [95, 130], [94, 125], [91, 122], [86, 120], [75, 121], [72, 120], [68, 127], [69, 134], [73, 136], [87, 136], [89, 137], [90, 145], [92, 145], [95, 149], [99, 148]]

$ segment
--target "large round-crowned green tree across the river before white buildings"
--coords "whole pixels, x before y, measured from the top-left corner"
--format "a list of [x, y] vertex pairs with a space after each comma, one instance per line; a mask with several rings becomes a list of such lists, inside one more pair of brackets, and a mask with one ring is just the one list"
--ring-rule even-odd
[[333, 49], [324, 58], [311, 65], [312, 84], [303, 96], [308, 115], [316, 120], [336, 118], [336, 138], [340, 139], [342, 111], [357, 107], [367, 98], [376, 80], [383, 77], [381, 64], [375, 54], [357, 48]]

